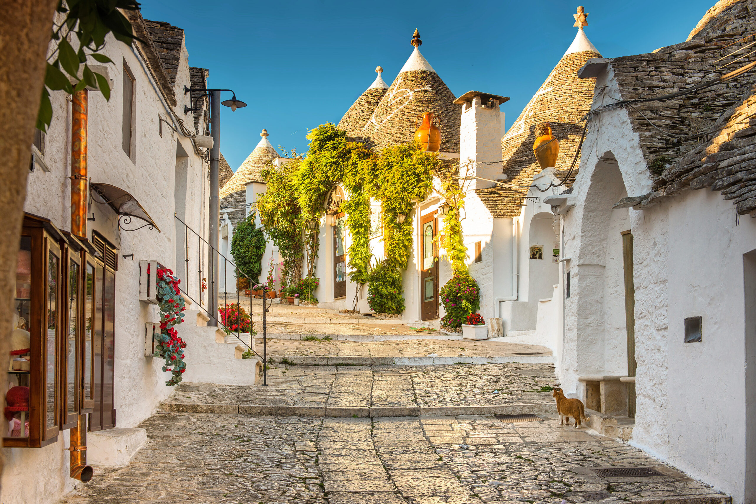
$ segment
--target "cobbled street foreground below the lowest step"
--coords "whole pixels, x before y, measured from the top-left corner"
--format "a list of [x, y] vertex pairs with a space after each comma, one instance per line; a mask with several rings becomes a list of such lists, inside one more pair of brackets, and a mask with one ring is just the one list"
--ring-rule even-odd
[[[158, 414], [129, 466], [96, 469], [64, 502], [728, 502], [634, 447], [540, 419]], [[657, 474], [593, 470], [612, 467]]]

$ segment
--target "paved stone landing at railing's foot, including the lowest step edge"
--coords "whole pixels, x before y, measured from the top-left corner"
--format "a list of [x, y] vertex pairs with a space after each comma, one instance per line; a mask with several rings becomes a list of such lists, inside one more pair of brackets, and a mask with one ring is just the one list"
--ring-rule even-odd
[[[387, 407], [398, 408], [393, 412], [401, 415], [546, 413], [553, 408], [549, 387], [556, 382], [552, 364], [268, 367], [268, 386], [180, 383], [163, 402], [163, 408], [196, 413], [318, 416], [349, 415], [350, 410], [344, 408], [360, 408], [351, 410], [352, 416], [375, 416], [380, 411], [376, 408]], [[318, 409], [317, 413], [307, 413], [271, 407]], [[401, 408], [414, 410], [408, 413]]]

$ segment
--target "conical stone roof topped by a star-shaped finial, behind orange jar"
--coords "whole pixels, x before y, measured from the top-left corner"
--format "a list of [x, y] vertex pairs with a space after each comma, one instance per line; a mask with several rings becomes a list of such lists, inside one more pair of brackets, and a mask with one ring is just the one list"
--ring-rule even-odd
[[[578, 9], [575, 19], [578, 20], [581, 14], [584, 13]], [[533, 176], [541, 173], [541, 165], [533, 154], [536, 124], [551, 124], [554, 137], [559, 138], [556, 169], [560, 179], [563, 180], [575, 158], [575, 153], [578, 152], [584, 124], [578, 124], [575, 128], [572, 128], [572, 124], [578, 122], [590, 110], [596, 85], [595, 78], [578, 78], [578, 69], [590, 58], [601, 57], [583, 31], [583, 26], [587, 26], [584, 17], [582, 23], [584, 24], [575, 23], [578, 33], [572, 45], [501, 139], [503, 173], [507, 175], [509, 183], [528, 186], [532, 183]], [[568, 130], [569, 133], [562, 137]], [[579, 163], [578, 157], [575, 167]], [[577, 170], [572, 172], [564, 189], [572, 186], [575, 175]], [[482, 198], [494, 217], [515, 217], [520, 214], [523, 195], [511, 191], [503, 191], [499, 195], [504, 195], [505, 198], [494, 198], [493, 194], [485, 197], [485, 190], [482, 192]]]

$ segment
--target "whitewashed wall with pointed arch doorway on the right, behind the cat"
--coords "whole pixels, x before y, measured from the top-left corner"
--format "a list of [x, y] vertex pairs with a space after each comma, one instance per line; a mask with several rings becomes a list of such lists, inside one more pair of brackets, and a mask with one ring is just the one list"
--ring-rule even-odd
[[[611, 97], [611, 76], [596, 86], [607, 84]], [[612, 212], [610, 198], [643, 195], [651, 181], [626, 112], [603, 112], [595, 120], [574, 186], [578, 204], [564, 219], [572, 296], [564, 300], [563, 386], [582, 397], [578, 376], [627, 371], [619, 343], [621, 245], [595, 244], [602, 233], [612, 238], [631, 229], [638, 366], [631, 444], [744, 502], [745, 398], [754, 392], [745, 389], [743, 254], [756, 249], [756, 220], [742, 217], [736, 225], [735, 207], [706, 189], [629, 209], [626, 217]], [[614, 167], [606, 162], [612, 157]], [[612, 169], [619, 179], [606, 177]], [[698, 315], [702, 342], [684, 343], [683, 320]], [[596, 334], [603, 340], [592, 340]]]

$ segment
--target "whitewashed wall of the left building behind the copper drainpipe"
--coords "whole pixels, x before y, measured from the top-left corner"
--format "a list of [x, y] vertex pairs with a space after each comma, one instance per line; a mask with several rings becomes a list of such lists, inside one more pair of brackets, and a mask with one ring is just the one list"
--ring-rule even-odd
[[[169, 114], [160, 101], [156, 86], [140, 60], [127, 46], [108, 37], [104, 54], [115, 61], [108, 65], [113, 90], [110, 101], [98, 92], [89, 92], [88, 106], [88, 177], [93, 183], [109, 183], [129, 191], [150, 214], [157, 229], [147, 227], [134, 232], [119, 231], [116, 215], [105, 205], [92, 203], [87, 238], [93, 229], [101, 232], [119, 247], [116, 272], [115, 320], [115, 408], [116, 425], [133, 427], [150, 416], [172, 388], [165, 385], [169, 373], [160, 371], [157, 359], [144, 357], [144, 324], [159, 320], [156, 306], [138, 300], [139, 260], [158, 260], [175, 268], [175, 174], [186, 171], [186, 199], [184, 208], [187, 223], [206, 235], [207, 167], [194, 153], [191, 141], [174, 133], [163, 124], [159, 134], [159, 118], [169, 122]], [[129, 158], [122, 150], [122, 61], [135, 77], [135, 156]], [[183, 117], [184, 85], [191, 85], [187, 68], [187, 52], [181, 51], [181, 64], [175, 83], [178, 105], [175, 110]], [[29, 176], [24, 211], [47, 217], [60, 229], [70, 229], [70, 103], [62, 91], [52, 94], [54, 118], [45, 139], [45, 161], [50, 173], [39, 169]], [[179, 112], [180, 111], [180, 112]], [[191, 124], [187, 115], [186, 124]], [[193, 128], [191, 125], [190, 128]], [[187, 161], [177, 167], [178, 143], [188, 153]], [[143, 224], [132, 220], [130, 229]], [[183, 233], [184, 229], [180, 229]], [[191, 234], [191, 233], [190, 233]], [[190, 240], [191, 244], [191, 240]], [[134, 260], [122, 254], [135, 254]], [[196, 257], [197, 248], [190, 247]], [[189, 281], [197, 289], [197, 279]], [[184, 284], [182, 284], [182, 287]], [[189, 323], [194, 323], [190, 321]], [[178, 327], [181, 334], [181, 326]], [[187, 353], [192, 349], [187, 347]], [[68, 477], [68, 432], [58, 441], [42, 449], [4, 449], [8, 463], [2, 475], [3, 502], [55, 502], [73, 488], [75, 480]], [[95, 472], [95, 478], [98, 475]]]

